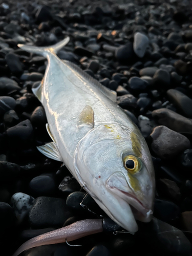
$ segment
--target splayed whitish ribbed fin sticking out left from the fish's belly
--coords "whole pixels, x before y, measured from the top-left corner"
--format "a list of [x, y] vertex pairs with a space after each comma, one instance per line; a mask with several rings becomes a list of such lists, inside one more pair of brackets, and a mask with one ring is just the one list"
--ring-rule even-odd
[[50, 142], [42, 146], [37, 146], [37, 150], [48, 158], [63, 162], [54, 142]]

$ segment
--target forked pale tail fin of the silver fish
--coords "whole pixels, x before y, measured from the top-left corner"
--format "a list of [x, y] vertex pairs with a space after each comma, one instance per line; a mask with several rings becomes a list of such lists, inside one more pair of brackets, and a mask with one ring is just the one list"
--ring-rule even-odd
[[44, 57], [47, 57], [47, 55], [49, 55], [49, 53], [57, 54], [57, 52], [59, 52], [59, 50], [63, 46], [68, 44], [69, 40], [70, 40], [70, 38], [68, 36], [65, 39], [63, 39], [62, 41], [58, 42], [57, 44], [55, 44], [53, 46], [48, 46], [48, 47], [36, 47], [36, 46], [27, 46], [27, 45], [20, 45], [20, 44], [17, 46], [27, 52], [36, 53], [36, 54], [42, 55]]

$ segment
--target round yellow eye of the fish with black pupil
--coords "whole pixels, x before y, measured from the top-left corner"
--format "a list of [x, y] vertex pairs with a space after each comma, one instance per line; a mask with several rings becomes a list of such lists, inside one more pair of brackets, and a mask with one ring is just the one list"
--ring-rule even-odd
[[135, 156], [126, 156], [124, 158], [124, 167], [131, 174], [138, 173], [141, 169], [141, 161]]

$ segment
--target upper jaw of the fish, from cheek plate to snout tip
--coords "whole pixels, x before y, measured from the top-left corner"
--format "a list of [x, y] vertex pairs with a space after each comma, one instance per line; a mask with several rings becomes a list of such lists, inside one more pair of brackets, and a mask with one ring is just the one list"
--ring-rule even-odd
[[153, 210], [137, 198], [122, 173], [114, 173], [106, 181], [106, 188], [130, 205], [136, 220], [142, 222], [150, 222], [152, 220]]

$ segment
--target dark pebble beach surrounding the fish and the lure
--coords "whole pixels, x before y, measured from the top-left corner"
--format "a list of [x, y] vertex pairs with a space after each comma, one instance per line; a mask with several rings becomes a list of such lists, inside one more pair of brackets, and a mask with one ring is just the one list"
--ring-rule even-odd
[[[139, 223], [134, 236], [103, 232], [71, 242], [81, 247], [41, 246], [22, 255], [191, 255], [191, 8], [190, 0], [1, 1], [1, 255], [38, 234], [95, 218], [79, 206], [85, 192], [67, 168], [36, 149], [50, 141], [31, 91], [46, 59], [17, 47], [48, 46], [67, 35], [58, 56], [116, 90], [147, 141], [156, 174], [154, 219]], [[90, 197], [86, 204], [103, 214]]]

